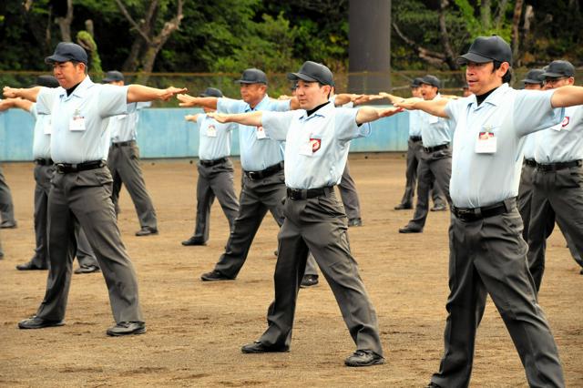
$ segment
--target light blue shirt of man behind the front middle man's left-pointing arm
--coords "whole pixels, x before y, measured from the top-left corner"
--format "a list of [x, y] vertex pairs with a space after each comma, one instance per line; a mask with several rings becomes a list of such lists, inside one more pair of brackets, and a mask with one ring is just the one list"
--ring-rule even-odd
[[[249, 104], [240, 99], [219, 98], [217, 102], [217, 111], [220, 113], [287, 110], [290, 110], [290, 100], [274, 100], [267, 95], [252, 109]], [[257, 138], [258, 129], [239, 126], [240, 165], [245, 171], [261, 171], [283, 160], [284, 145], [271, 138]]]

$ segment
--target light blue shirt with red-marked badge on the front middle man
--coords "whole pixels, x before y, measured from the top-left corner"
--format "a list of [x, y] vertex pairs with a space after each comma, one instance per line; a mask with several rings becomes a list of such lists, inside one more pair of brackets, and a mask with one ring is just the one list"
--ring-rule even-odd
[[308, 117], [305, 110], [264, 112], [268, 137], [285, 140], [285, 184], [292, 189], [319, 189], [340, 183], [350, 140], [370, 135], [358, 126], [358, 109], [328, 104]]

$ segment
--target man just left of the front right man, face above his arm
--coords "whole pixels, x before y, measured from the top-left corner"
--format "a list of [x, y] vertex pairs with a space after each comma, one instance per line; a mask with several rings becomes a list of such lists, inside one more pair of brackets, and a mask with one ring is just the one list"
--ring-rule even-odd
[[[435, 76], [421, 78], [421, 94], [426, 101], [439, 100], [441, 82]], [[449, 179], [452, 174], [452, 129], [449, 120], [420, 112], [419, 128], [423, 150], [417, 168], [417, 203], [413, 219], [399, 233], [423, 231], [429, 212], [429, 190], [432, 182], [435, 189], [445, 194], [449, 202]]]

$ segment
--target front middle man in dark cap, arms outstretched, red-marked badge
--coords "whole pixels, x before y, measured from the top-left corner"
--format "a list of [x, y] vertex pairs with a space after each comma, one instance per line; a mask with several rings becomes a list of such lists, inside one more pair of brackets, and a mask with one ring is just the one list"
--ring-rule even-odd
[[267, 330], [259, 341], [244, 345], [241, 352], [289, 351], [298, 290], [311, 251], [356, 344], [356, 352], [344, 363], [381, 364], [384, 358], [376, 313], [351, 255], [346, 214], [333, 186], [342, 177], [350, 140], [370, 134], [366, 123], [392, 116], [400, 109], [334, 107], [328, 100], [332, 72], [311, 61], [288, 77], [298, 83], [302, 109], [217, 115], [220, 122], [264, 126], [267, 137], [286, 142], [286, 218], [278, 235], [275, 299], [268, 310]]

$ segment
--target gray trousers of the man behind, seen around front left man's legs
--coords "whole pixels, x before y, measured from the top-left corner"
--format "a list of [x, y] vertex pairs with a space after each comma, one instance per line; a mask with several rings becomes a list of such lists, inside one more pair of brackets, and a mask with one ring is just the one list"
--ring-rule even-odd
[[[37, 268], [48, 268], [48, 235], [47, 235], [47, 205], [51, 189], [51, 179], [55, 174], [54, 166], [35, 165], [35, 256], [31, 260]], [[95, 254], [87, 241], [85, 232], [76, 220], [75, 240], [77, 241], [77, 260], [79, 265], [87, 267], [98, 266]]]

